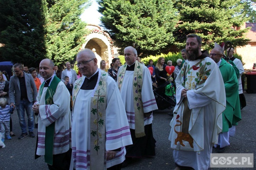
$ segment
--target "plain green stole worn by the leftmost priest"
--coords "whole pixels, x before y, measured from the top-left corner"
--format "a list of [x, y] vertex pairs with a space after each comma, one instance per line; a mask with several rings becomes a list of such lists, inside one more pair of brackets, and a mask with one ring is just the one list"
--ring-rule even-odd
[[[50, 81], [50, 86], [47, 88], [45, 94], [45, 104], [54, 104], [53, 103], [53, 95], [55, 94], [58, 83], [61, 80], [54, 75], [52, 80]], [[40, 98], [42, 96], [44, 90], [44, 83], [39, 88]], [[47, 164], [53, 164], [53, 143], [54, 143], [54, 132], [55, 132], [55, 122], [45, 127], [45, 156], [44, 160]]]

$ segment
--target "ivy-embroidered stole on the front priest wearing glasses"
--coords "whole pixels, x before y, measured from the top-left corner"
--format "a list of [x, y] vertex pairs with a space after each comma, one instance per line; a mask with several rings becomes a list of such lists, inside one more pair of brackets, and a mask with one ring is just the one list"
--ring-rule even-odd
[[[90, 119], [90, 169], [104, 169], [105, 161], [105, 143], [106, 143], [106, 106], [107, 106], [107, 77], [109, 75], [99, 70], [99, 76], [96, 87], [94, 88], [93, 96], [91, 99], [91, 119]], [[85, 76], [81, 77], [75, 82], [73, 90], [73, 107], [75, 106], [76, 96], [83, 85]], [[75, 114], [75, 113], [73, 113]]]

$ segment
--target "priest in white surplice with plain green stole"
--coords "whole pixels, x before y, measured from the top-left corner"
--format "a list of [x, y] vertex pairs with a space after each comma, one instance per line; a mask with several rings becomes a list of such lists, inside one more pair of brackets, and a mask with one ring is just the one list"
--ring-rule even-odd
[[32, 106], [38, 114], [36, 158], [44, 155], [50, 170], [68, 170], [71, 159], [70, 93], [53, 74], [54, 63], [43, 59], [39, 65], [44, 82], [39, 87], [37, 102]]

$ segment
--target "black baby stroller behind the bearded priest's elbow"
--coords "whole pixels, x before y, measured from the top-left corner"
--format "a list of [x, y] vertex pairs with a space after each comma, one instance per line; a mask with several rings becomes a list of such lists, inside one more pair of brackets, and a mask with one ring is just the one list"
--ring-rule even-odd
[[159, 87], [153, 86], [153, 92], [156, 99], [156, 104], [159, 110], [167, 109], [168, 107], [174, 107], [176, 105], [175, 99], [165, 95], [165, 87], [169, 85], [170, 82], [167, 81]]

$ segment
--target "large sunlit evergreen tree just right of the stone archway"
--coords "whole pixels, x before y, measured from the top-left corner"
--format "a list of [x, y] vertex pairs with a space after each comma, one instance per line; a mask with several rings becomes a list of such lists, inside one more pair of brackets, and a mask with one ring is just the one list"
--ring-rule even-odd
[[101, 21], [120, 53], [133, 46], [138, 55], [160, 53], [173, 43], [177, 23], [172, 0], [98, 0]]

